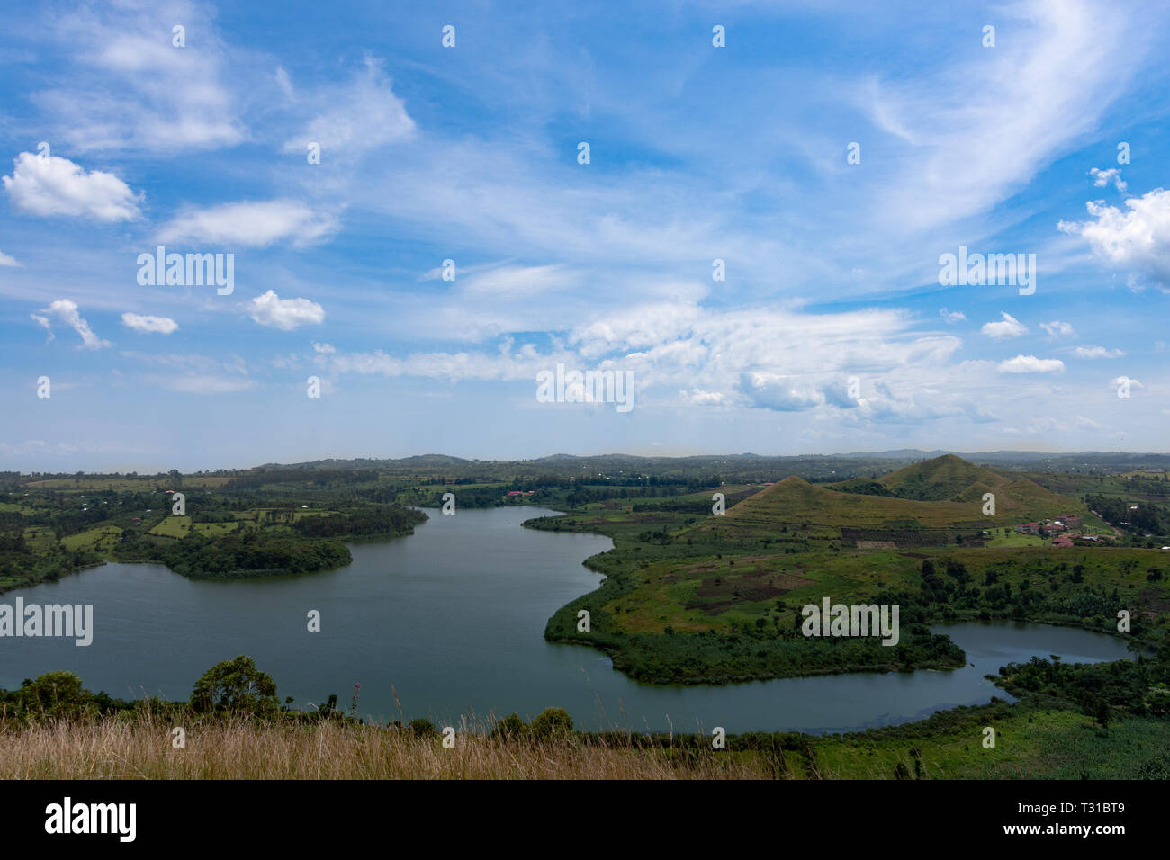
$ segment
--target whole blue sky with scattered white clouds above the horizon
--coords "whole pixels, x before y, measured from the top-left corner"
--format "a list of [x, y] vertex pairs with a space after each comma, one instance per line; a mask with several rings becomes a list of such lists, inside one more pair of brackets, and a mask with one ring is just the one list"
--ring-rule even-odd
[[0, 468], [1170, 449], [1164, 5], [46, 6]]

